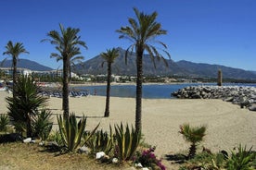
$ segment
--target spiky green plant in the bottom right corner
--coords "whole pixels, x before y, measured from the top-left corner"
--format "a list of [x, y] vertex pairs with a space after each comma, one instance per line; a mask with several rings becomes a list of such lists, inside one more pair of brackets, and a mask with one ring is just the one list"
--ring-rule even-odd
[[255, 169], [256, 164], [253, 164], [256, 159], [256, 153], [250, 150], [247, 151], [246, 146], [242, 147], [239, 144], [237, 148], [238, 152], [231, 152], [231, 156], [227, 161], [228, 170], [253, 170]]

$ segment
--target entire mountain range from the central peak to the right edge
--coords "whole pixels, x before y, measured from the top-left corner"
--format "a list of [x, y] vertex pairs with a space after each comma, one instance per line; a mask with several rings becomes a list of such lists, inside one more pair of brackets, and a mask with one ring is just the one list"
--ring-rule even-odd
[[[116, 75], [136, 75], [135, 54], [130, 53], [127, 57], [127, 65], [125, 65], [125, 50], [118, 48], [120, 56], [116, 58], [112, 64], [112, 73]], [[76, 65], [73, 68], [74, 72], [80, 74], [106, 74], [107, 64], [102, 67], [103, 58], [100, 55]], [[143, 57], [143, 71], [145, 76], [186, 76], [197, 78], [216, 78], [219, 69], [223, 71], [224, 79], [256, 79], [256, 74], [243, 69], [224, 67], [220, 65], [209, 65], [201, 63], [193, 63], [189, 61], [174, 62], [172, 59], [167, 59], [168, 67], [165, 67], [162, 60], [156, 60], [156, 68], [150, 59], [149, 55]]]

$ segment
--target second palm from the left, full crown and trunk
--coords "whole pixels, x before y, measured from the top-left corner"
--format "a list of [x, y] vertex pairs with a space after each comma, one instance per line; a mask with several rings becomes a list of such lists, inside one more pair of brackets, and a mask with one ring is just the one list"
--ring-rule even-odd
[[57, 53], [52, 53], [51, 57], [57, 57], [63, 60], [63, 87], [62, 87], [62, 107], [63, 116], [69, 117], [69, 71], [70, 71], [70, 59], [76, 55], [81, 55], [80, 45], [87, 49], [85, 42], [80, 40], [78, 36], [79, 29], [67, 28], [65, 29], [59, 24], [60, 33], [57, 30], [51, 30], [47, 33], [50, 39], [43, 41], [49, 41], [51, 44], [56, 45]]

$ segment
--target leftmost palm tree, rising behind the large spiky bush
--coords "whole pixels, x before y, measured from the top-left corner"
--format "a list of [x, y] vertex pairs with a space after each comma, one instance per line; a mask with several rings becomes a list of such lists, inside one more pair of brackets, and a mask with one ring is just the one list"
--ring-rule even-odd
[[21, 42], [13, 43], [11, 41], [7, 42], [6, 52], [4, 52], [3, 55], [10, 55], [12, 57], [13, 97], [16, 95], [16, 91], [14, 91], [14, 89], [15, 89], [14, 87], [16, 86], [16, 81], [17, 81], [17, 77], [18, 77], [17, 76], [17, 61], [18, 61], [20, 54], [30, 54], [24, 48], [23, 43], [21, 43]]

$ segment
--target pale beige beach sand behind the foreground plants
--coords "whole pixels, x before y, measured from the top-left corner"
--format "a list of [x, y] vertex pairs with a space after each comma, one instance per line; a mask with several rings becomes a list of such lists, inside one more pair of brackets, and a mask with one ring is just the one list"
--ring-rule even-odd
[[[6, 113], [5, 97], [0, 91], [0, 114]], [[87, 129], [96, 127], [109, 129], [109, 124], [128, 123], [134, 125], [135, 100], [133, 98], [110, 98], [110, 116], [103, 117], [105, 97], [88, 96], [70, 98], [70, 112], [86, 115]], [[62, 99], [49, 98], [49, 108], [56, 117], [62, 114]], [[56, 122], [56, 119], [54, 120]], [[180, 99], [143, 99], [142, 128], [145, 141], [156, 146], [156, 154], [164, 158], [165, 154], [186, 152], [189, 144], [178, 133], [179, 126], [189, 123], [191, 126], [206, 125], [207, 135], [199, 145], [211, 149], [231, 151], [239, 143], [253, 146], [256, 150], [256, 112], [241, 109], [238, 105], [222, 100], [180, 100]], [[164, 161], [168, 169], [170, 163]]]

